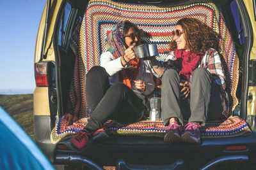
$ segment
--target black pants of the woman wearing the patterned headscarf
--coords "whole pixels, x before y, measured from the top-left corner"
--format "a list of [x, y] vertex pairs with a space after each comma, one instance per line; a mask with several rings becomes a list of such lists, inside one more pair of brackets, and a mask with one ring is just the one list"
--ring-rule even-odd
[[90, 119], [84, 127], [87, 132], [100, 129], [109, 119], [118, 122], [136, 122], [143, 116], [144, 104], [124, 83], [109, 85], [104, 67], [94, 66], [86, 74], [86, 100]]

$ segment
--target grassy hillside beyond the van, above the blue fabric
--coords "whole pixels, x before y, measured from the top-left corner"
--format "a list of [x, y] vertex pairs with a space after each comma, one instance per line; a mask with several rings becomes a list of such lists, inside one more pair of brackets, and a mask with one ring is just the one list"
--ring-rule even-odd
[[0, 105], [35, 139], [33, 132], [33, 94], [0, 95]]

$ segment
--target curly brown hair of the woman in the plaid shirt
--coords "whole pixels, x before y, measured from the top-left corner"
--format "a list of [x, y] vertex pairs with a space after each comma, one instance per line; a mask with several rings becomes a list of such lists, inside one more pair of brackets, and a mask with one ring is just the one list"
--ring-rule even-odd
[[[203, 55], [208, 48], [218, 50], [218, 34], [211, 27], [195, 18], [182, 18], [177, 22], [184, 32], [187, 47], [192, 52]], [[174, 40], [170, 42], [170, 50], [174, 51], [177, 44]]]

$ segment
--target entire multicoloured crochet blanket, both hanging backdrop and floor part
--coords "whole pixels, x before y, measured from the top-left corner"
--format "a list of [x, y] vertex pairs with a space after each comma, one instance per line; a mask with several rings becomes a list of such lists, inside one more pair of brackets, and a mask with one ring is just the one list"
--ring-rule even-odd
[[[117, 3], [111, 0], [91, 0], [81, 20], [81, 26], [77, 25], [76, 31], [74, 31], [70, 41], [70, 47], [76, 55], [74, 76], [69, 90], [70, 110], [68, 110], [66, 115], [60, 118], [60, 121], [53, 129], [51, 135], [52, 143], [57, 143], [61, 139], [69, 138], [80, 131], [86, 124], [86, 119], [83, 118], [87, 116], [85, 74], [91, 67], [100, 65], [100, 54], [106, 51], [104, 41], [113, 25], [121, 20], [129, 20], [136, 24], [139, 29], [145, 32], [145, 36], [141, 39], [142, 43], [156, 43], [159, 52], [157, 59], [164, 60], [169, 52], [168, 43], [171, 41], [170, 32], [174, 30], [175, 23], [180, 18], [184, 17], [197, 18], [218, 33], [218, 52], [223, 56], [227, 64], [227, 85], [232, 95], [232, 97], [230, 97], [230, 107], [234, 110], [238, 103], [236, 89], [239, 60], [234, 42], [225, 25], [224, 18], [211, 0], [186, 0], [179, 3], [163, 5]], [[70, 117], [72, 117], [72, 119], [70, 119]], [[236, 124], [241, 125], [239, 128], [245, 128], [245, 130], [239, 129], [237, 131], [236, 126], [232, 123], [228, 123], [229, 121], [236, 122]], [[229, 137], [241, 135], [249, 131], [246, 122], [239, 118], [228, 118], [226, 122], [227, 124], [209, 122], [206, 126], [205, 134], [202, 132], [202, 136]], [[109, 127], [109, 129], [112, 128], [113, 131], [108, 129], [108, 132], [115, 134], [125, 134], [129, 131], [136, 132], [132, 134], [127, 133], [127, 135], [132, 136], [135, 134], [139, 136], [163, 136], [166, 130], [166, 127], [164, 127], [161, 122], [137, 122], [130, 124], [128, 127], [131, 128], [125, 130], [124, 127], [127, 127], [127, 125], [109, 121], [106, 127]], [[221, 127], [224, 129], [221, 129]], [[213, 130], [210, 130], [211, 128], [213, 128]], [[236, 131], [234, 131], [234, 129], [236, 129]], [[214, 133], [219, 134], [216, 135]]]

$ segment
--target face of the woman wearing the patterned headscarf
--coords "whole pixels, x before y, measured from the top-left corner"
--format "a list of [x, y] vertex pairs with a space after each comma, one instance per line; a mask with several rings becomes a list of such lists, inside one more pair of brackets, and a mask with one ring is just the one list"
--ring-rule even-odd
[[138, 36], [138, 32], [134, 29], [134, 27], [130, 27], [127, 34], [124, 36], [125, 47], [128, 48], [133, 43], [136, 45], [140, 45], [140, 37]]

